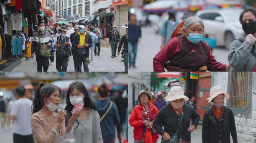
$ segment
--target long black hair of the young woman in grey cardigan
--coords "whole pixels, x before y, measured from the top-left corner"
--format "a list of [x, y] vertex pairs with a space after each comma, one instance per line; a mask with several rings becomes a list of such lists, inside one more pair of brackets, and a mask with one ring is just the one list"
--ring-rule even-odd
[[[66, 96], [66, 107], [64, 110], [67, 111], [67, 118], [66, 118], [66, 126], [68, 124], [68, 120], [71, 118], [72, 116], [72, 109], [73, 109], [73, 105], [71, 104], [70, 100], [69, 100], [69, 96], [70, 96], [70, 93], [73, 91], [73, 89], [77, 89], [79, 90], [80, 92], [82, 92], [84, 95], [85, 95], [85, 98], [83, 98], [83, 102], [84, 102], [84, 106], [85, 107], [88, 107], [88, 108], [91, 108], [91, 109], [94, 109], [96, 110], [96, 105], [94, 104], [94, 102], [91, 100], [90, 96], [89, 96], [89, 93], [87, 91], [87, 89], [85, 88], [85, 85], [83, 85], [82, 82], [79, 82], [79, 81], [76, 81], [76, 82], [72, 82], [69, 87], [68, 87], [68, 90], [67, 90], [67, 96]], [[76, 120], [76, 122], [78, 123], [78, 121]], [[78, 123], [79, 125], [79, 123]], [[77, 127], [78, 127], [77, 125]], [[77, 128], [76, 127], [76, 128]]]

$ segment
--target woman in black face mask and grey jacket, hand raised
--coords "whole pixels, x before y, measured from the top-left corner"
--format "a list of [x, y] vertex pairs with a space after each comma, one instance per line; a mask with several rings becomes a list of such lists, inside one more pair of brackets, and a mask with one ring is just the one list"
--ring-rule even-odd
[[230, 71], [256, 71], [256, 8], [246, 7], [240, 15], [244, 34], [229, 49]]

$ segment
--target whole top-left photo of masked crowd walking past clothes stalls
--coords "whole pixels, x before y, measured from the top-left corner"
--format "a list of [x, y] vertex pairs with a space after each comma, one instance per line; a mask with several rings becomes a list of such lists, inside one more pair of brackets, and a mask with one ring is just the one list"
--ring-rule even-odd
[[0, 71], [128, 72], [128, 0], [0, 0]]

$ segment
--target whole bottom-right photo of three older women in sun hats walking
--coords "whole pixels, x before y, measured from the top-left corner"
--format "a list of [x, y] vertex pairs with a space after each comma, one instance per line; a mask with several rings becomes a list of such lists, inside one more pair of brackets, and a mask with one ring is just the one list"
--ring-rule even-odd
[[255, 143], [255, 72], [129, 72], [129, 143]]

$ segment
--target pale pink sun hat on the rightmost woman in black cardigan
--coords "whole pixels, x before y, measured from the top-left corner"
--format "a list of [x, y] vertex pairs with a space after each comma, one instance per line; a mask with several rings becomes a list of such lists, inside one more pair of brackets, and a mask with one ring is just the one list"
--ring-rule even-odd
[[223, 89], [222, 89], [222, 86], [213, 86], [211, 89], [210, 89], [210, 97], [207, 98], [208, 100], [208, 103], [211, 102], [215, 97], [217, 97], [219, 94], [224, 94], [224, 98], [227, 100], [229, 99], [229, 95], [228, 93], [226, 93]]

